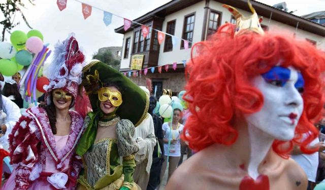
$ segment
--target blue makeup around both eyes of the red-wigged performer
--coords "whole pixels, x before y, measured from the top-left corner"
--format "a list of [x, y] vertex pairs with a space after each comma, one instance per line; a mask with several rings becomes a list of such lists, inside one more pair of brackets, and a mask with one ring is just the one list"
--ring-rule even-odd
[[[286, 82], [290, 79], [290, 69], [281, 66], [275, 66], [270, 69], [268, 72], [263, 73], [262, 77], [265, 82], [278, 86], [283, 87]], [[296, 89], [302, 93], [304, 91], [305, 81], [303, 75], [298, 72], [298, 80], [295, 84]]]

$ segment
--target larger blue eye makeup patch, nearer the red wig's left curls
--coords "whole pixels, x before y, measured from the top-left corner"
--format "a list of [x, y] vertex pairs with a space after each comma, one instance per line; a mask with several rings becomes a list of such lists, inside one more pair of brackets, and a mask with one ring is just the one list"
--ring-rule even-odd
[[275, 66], [268, 72], [262, 74], [265, 82], [275, 86], [283, 87], [290, 79], [290, 69], [281, 66]]

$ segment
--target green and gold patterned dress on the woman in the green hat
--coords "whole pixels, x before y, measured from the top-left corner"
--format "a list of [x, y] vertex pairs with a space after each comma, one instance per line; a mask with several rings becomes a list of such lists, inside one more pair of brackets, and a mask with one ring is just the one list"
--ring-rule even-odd
[[[95, 115], [88, 113], [84, 125], [96, 131], [97, 120]], [[94, 128], [93, 128], [94, 127]], [[120, 120], [116, 125], [116, 136], [93, 141], [82, 156], [84, 172], [78, 179], [77, 189], [119, 189], [122, 185], [133, 189], [135, 186], [133, 173], [136, 163], [134, 153], [138, 151], [138, 145], [132, 142], [130, 137], [134, 131], [134, 125], [129, 120]], [[85, 132], [87, 133], [87, 132]], [[85, 135], [85, 134], [84, 134]], [[122, 163], [120, 161], [122, 157]], [[82, 188], [80, 187], [82, 186]], [[110, 187], [107, 187], [109, 186]], [[139, 189], [139, 188], [138, 188]]]

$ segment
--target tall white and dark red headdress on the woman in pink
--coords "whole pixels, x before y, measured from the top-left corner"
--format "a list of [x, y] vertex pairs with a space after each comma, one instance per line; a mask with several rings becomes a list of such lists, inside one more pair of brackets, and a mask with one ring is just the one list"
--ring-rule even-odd
[[81, 84], [81, 71], [85, 60], [84, 54], [79, 49], [74, 33], [71, 33], [63, 42], [58, 42], [54, 47], [53, 61], [47, 68], [46, 76], [50, 84], [44, 86], [46, 90], [45, 101], [51, 103], [51, 92], [53, 89], [63, 89], [73, 94], [73, 107], [78, 95], [78, 85]]

